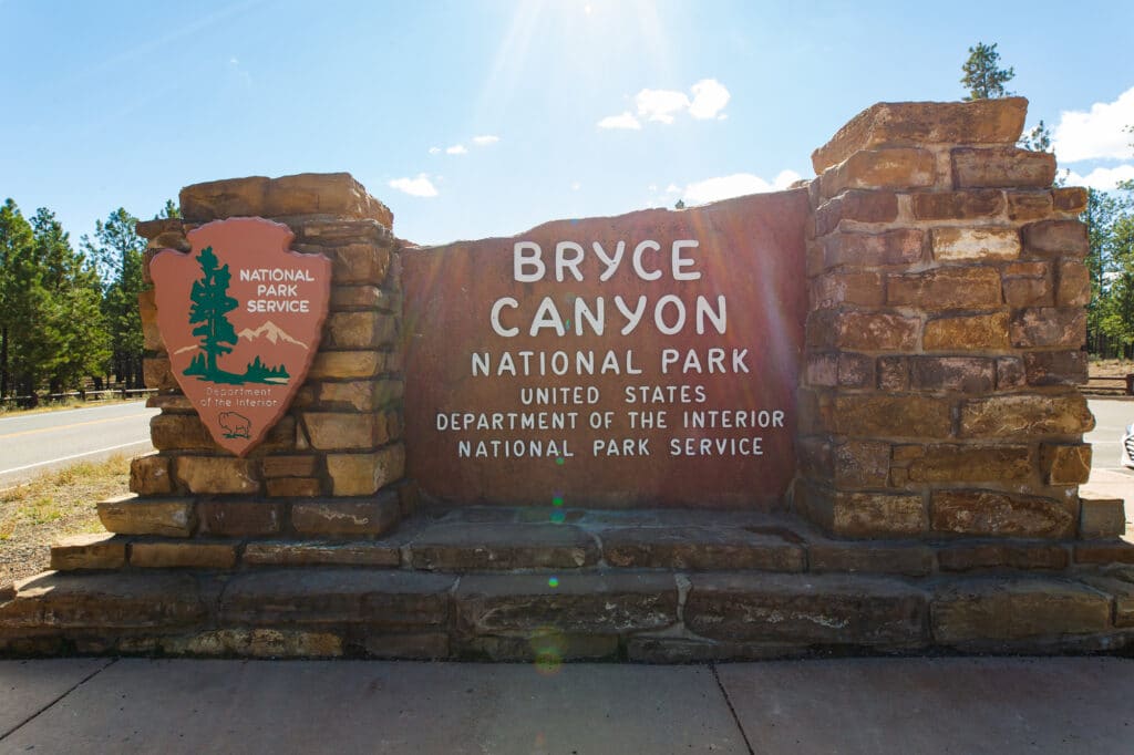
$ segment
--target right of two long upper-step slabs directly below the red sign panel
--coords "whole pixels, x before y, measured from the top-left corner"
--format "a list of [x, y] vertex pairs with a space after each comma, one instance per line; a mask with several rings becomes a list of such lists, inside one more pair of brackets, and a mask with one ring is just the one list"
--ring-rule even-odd
[[803, 571], [799, 545], [746, 529], [699, 526], [623, 527], [600, 534], [607, 562], [620, 568]]

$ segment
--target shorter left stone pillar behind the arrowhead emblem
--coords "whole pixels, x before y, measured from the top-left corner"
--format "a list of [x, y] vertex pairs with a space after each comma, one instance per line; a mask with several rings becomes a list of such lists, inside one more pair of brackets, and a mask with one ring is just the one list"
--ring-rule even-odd
[[[237, 458], [212, 440], [181, 396], [156, 325], [153, 291], [141, 296], [155, 455], [136, 459], [138, 498], [105, 504], [103, 524], [128, 534], [373, 535], [399, 518], [404, 388], [398, 329], [399, 245], [392, 214], [348, 173], [305, 173], [197, 184], [181, 190], [184, 220], [138, 223], [150, 258], [188, 251], [206, 222], [261, 217], [295, 234], [291, 248], [332, 262], [330, 313], [306, 382], [264, 441]], [[117, 515], [115, 512], [118, 512]], [[152, 514], [147, 514], [150, 511]], [[171, 518], [172, 517], [172, 518]], [[164, 523], [164, 524], [162, 524]]]

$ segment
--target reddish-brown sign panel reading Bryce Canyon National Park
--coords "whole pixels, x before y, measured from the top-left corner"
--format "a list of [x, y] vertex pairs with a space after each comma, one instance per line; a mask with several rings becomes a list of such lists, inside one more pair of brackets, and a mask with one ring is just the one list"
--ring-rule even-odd
[[455, 503], [777, 506], [806, 213], [795, 190], [407, 251], [409, 475]]

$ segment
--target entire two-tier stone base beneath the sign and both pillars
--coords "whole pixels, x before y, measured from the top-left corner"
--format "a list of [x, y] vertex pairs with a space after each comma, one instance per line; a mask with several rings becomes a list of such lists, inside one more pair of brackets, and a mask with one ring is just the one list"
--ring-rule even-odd
[[758, 514], [460, 509], [337, 541], [85, 536], [0, 653], [693, 662], [1125, 652], [1134, 545], [835, 541]]

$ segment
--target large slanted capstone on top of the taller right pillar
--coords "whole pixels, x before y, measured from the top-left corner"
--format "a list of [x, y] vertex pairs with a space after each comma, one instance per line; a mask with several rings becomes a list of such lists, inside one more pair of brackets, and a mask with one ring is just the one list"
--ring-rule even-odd
[[822, 173], [860, 150], [922, 144], [1015, 144], [1024, 129], [1027, 100], [879, 102], [855, 116], [811, 154]]

